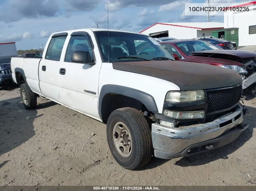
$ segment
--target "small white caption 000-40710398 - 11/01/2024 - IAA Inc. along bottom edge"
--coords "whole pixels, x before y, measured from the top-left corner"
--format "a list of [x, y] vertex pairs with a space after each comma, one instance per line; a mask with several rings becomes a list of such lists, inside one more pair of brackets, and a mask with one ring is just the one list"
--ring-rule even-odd
[[93, 190], [159, 190], [157, 186], [94, 186]]

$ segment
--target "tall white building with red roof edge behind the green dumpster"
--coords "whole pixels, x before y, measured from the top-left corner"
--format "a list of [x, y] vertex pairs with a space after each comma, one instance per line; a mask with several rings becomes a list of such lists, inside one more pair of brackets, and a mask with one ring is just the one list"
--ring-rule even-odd
[[224, 12], [224, 27], [238, 29], [239, 46], [256, 45], [256, 1], [235, 7], [248, 7], [250, 11]]

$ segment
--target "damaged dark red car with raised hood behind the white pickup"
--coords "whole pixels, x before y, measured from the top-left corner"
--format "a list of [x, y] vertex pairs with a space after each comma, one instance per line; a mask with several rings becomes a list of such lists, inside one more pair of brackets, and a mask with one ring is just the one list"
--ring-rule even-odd
[[202, 40], [160, 42], [175, 60], [211, 64], [237, 71], [243, 78], [243, 89], [256, 81], [256, 53], [222, 50]]

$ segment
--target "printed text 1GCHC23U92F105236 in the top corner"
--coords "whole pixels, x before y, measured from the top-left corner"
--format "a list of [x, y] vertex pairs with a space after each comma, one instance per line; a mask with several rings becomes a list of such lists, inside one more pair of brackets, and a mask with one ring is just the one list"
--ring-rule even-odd
[[249, 11], [249, 7], [189, 7], [189, 11]]

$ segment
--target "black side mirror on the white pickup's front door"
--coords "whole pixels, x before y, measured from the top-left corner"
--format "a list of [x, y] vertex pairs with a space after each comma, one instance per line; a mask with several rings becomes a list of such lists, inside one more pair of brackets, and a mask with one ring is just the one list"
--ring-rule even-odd
[[90, 53], [88, 51], [75, 51], [71, 56], [71, 61], [81, 64], [95, 65], [95, 62], [90, 58]]

